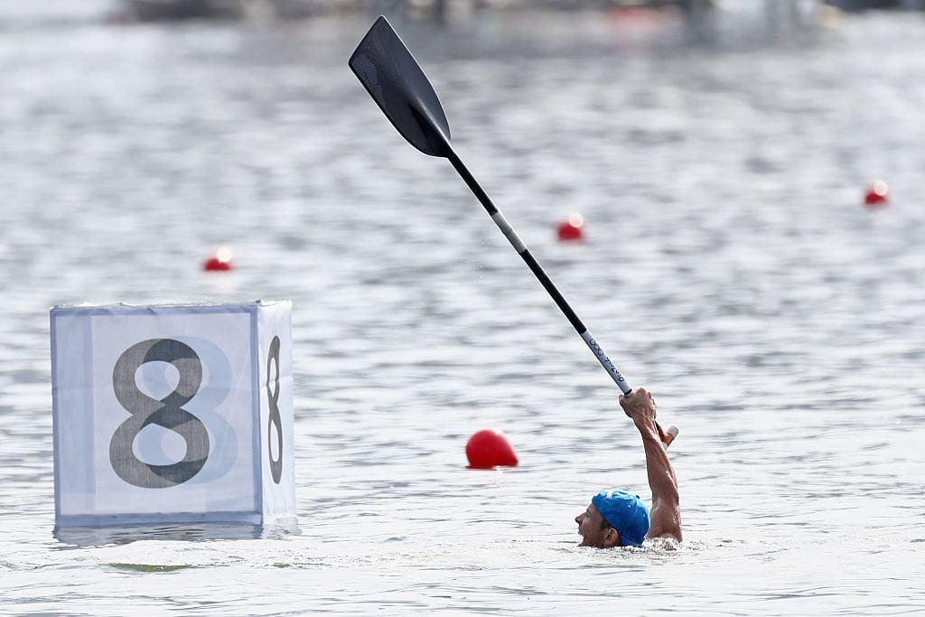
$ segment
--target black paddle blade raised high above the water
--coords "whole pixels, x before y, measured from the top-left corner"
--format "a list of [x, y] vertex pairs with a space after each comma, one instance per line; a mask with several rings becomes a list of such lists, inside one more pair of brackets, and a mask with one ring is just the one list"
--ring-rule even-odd
[[450, 125], [437, 93], [388, 19], [376, 19], [350, 56], [350, 68], [402, 137], [424, 154], [451, 154]]

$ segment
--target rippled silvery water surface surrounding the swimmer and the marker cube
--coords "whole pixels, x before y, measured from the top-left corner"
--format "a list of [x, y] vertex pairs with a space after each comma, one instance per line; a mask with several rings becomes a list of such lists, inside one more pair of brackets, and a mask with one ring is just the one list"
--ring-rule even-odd
[[[0, 592], [12, 614], [925, 611], [925, 22], [692, 45], [671, 24], [402, 24], [454, 142], [681, 426], [683, 549], [617, 391], [445, 161], [346, 66], [371, 19], [0, 18]], [[881, 212], [860, 205], [890, 183]], [[586, 216], [587, 240], [554, 225]], [[220, 244], [226, 275], [199, 270]], [[54, 525], [49, 306], [294, 303], [298, 535]], [[521, 466], [465, 469], [497, 426]]]

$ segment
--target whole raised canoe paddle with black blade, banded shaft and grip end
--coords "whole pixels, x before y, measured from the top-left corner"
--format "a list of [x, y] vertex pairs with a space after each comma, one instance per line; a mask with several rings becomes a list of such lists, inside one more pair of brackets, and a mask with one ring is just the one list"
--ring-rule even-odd
[[[437, 93], [434, 92], [434, 87], [430, 85], [430, 81], [414, 60], [408, 47], [401, 42], [398, 33], [388, 23], [388, 19], [384, 17], [376, 19], [376, 23], [369, 29], [363, 41], [357, 45], [351, 55], [350, 68], [402, 137], [424, 154], [450, 160], [450, 164], [465, 180], [469, 189], [475, 193], [478, 201], [485, 206], [488, 216], [491, 216], [491, 220], [495, 222], [504, 237], [511, 242], [514, 250], [524, 259], [526, 265], [549, 292], [552, 300], [556, 302], [578, 335], [586, 342], [588, 349], [598, 358], [598, 362], [607, 374], [611, 376], [624, 395], [630, 396], [633, 389], [626, 383], [626, 379], [611, 363], [610, 358], [578, 319], [578, 315], [575, 315], [569, 303], [565, 302], [565, 298], [552, 284], [536, 258], [527, 250], [524, 241], [521, 241], [504, 215], [500, 213], [495, 204], [492, 204], [487, 193], [475, 181], [475, 177], [463, 165], [460, 157], [453, 152], [450, 144], [450, 125], [447, 123], [447, 117], [443, 113]], [[671, 426], [668, 431], [662, 431], [659, 426], [659, 433], [666, 448], [677, 435], [677, 430], [676, 427]]]

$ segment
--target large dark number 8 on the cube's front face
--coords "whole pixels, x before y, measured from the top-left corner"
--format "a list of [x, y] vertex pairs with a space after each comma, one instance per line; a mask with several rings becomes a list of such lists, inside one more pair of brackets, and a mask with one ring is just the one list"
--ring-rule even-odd
[[[177, 367], [179, 383], [157, 401], [135, 385], [135, 373], [142, 364], [167, 362]], [[113, 369], [116, 399], [131, 414], [109, 441], [109, 462], [116, 474], [130, 485], [142, 488], [175, 487], [199, 473], [209, 456], [209, 434], [203, 422], [183, 409], [199, 391], [203, 364], [192, 348], [174, 339], [142, 340], [129, 347]], [[148, 425], [163, 426], [186, 441], [183, 460], [168, 465], [144, 463], [132, 450], [139, 432]]]

